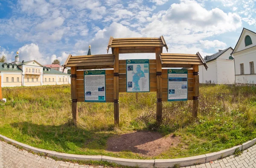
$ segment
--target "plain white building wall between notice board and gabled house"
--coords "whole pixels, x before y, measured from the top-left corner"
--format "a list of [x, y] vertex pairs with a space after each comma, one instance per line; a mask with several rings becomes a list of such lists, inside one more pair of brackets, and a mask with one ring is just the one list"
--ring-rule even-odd
[[234, 84], [235, 65], [232, 52], [233, 48], [229, 47], [211, 56], [205, 56], [204, 60], [209, 68], [206, 70], [204, 66], [199, 66], [199, 83]]

